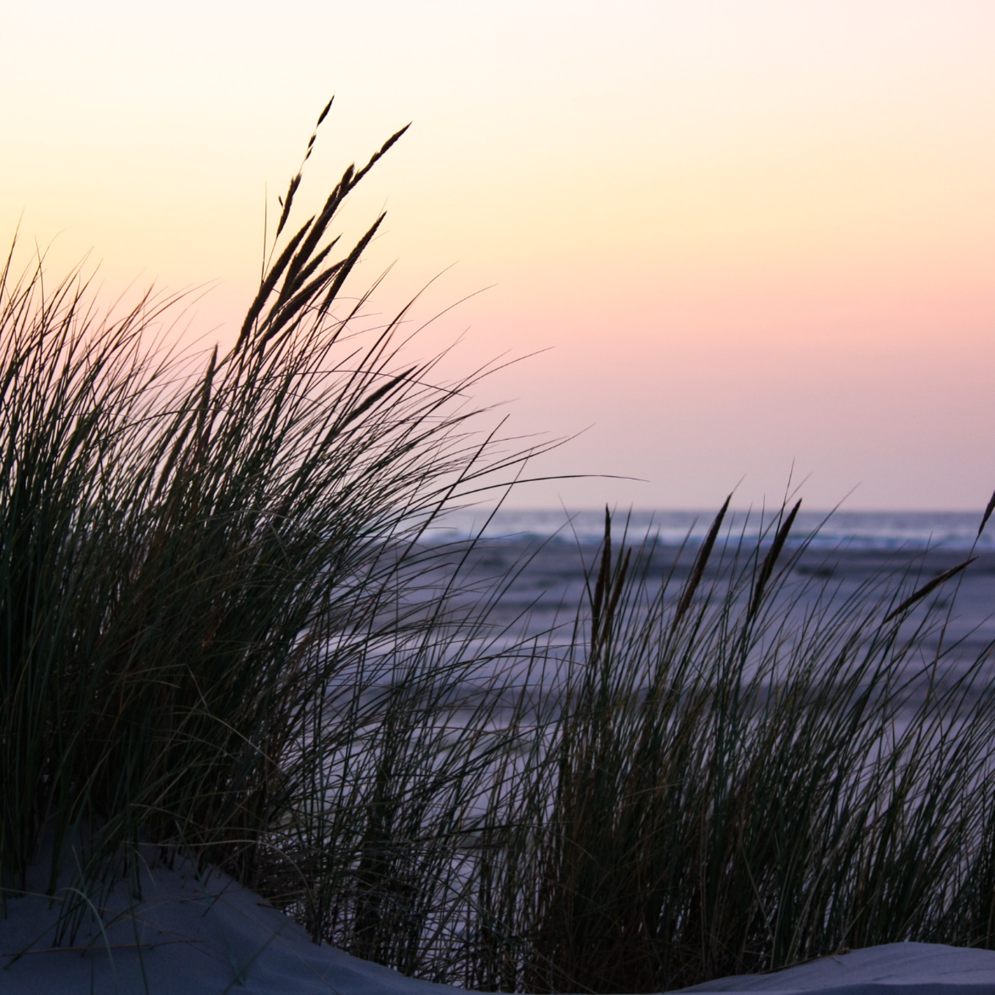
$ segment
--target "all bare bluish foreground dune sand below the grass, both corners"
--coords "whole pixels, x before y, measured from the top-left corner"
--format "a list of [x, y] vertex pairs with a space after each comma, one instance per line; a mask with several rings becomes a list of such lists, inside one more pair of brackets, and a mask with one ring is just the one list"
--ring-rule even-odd
[[[0, 995], [454, 995], [330, 946], [230, 878], [145, 871], [142, 901], [123, 887], [104, 930], [86, 925], [72, 949], [52, 949], [54, 912], [41, 896], [13, 898], [0, 919]], [[28, 951], [15, 959], [14, 954]], [[767, 975], [697, 985], [696, 992], [832, 995], [995, 995], [995, 952], [894, 943]]]

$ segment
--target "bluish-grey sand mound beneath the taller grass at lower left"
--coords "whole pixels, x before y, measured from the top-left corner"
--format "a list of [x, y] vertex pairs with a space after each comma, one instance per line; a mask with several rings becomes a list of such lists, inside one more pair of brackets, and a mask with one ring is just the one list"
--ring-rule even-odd
[[[52, 950], [47, 899], [8, 900], [0, 919], [0, 993], [64, 995], [454, 995], [458, 989], [406, 978], [327, 945], [225, 875], [203, 884], [158, 868], [143, 872], [142, 901], [126, 890], [106, 905], [123, 912], [104, 931], [88, 924], [73, 949]], [[28, 950], [18, 959], [11, 954]]]

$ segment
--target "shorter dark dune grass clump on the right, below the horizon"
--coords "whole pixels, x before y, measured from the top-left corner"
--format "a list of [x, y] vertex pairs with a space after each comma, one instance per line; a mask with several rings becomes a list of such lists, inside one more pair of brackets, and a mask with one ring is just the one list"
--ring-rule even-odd
[[474, 861], [475, 986], [653, 992], [905, 939], [995, 943], [987, 652], [956, 670], [925, 652], [934, 580], [841, 594], [793, 572], [792, 510], [713, 548], [724, 511], [683, 583], [606, 529]]

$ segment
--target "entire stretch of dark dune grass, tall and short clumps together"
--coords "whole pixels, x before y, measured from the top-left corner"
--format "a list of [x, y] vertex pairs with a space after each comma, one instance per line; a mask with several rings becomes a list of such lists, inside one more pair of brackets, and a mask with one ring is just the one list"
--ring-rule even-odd
[[175, 301], [107, 318], [8, 259], [3, 913], [44, 862], [71, 940], [153, 844], [484, 990], [995, 946], [988, 653], [926, 650], [955, 572], [800, 577], [797, 505], [747, 539], [726, 501], [690, 563], [609, 516], [535, 633], [497, 623], [520, 563], [475, 588], [479, 543], [427, 541], [534, 451], [347, 296], [382, 219], [345, 251], [331, 225], [400, 134], [296, 226], [298, 172], [228, 352], [164, 349]]

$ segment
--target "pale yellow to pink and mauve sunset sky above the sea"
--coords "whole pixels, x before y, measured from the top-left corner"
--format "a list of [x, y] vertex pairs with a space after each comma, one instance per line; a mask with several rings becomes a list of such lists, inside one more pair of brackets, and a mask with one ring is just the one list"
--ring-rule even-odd
[[[383, 206], [362, 278], [464, 333], [518, 506], [981, 508], [995, 487], [991, 0], [18, 3], [0, 233], [108, 296], [210, 285], [231, 334], [314, 118], [323, 199]], [[445, 271], [445, 272], [443, 272]], [[485, 290], [487, 289], [487, 290]], [[741, 481], [741, 483], [740, 483]], [[856, 490], [855, 490], [856, 489]], [[852, 492], [852, 494], [851, 494]]]

